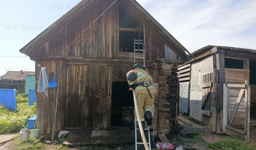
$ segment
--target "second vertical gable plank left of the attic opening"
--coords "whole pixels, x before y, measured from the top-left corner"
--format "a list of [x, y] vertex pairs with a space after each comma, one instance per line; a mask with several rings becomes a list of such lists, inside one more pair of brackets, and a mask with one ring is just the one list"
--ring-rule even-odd
[[[107, 0], [107, 8], [113, 0]], [[113, 58], [113, 7], [107, 10], [107, 58]]]

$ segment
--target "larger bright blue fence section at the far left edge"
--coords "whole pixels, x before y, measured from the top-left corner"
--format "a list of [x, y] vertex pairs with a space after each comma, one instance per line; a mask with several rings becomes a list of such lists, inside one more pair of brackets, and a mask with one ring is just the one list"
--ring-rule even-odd
[[16, 112], [17, 106], [15, 91], [15, 89], [0, 89], [0, 103]]

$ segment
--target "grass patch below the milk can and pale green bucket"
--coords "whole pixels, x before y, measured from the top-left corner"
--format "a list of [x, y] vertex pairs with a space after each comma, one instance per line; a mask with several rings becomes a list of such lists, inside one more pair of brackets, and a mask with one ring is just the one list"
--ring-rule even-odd
[[46, 147], [45, 144], [38, 142], [35, 143], [37, 139], [30, 137], [29, 141], [27, 142], [20, 142], [19, 137], [14, 139], [14, 142], [12, 144], [12, 149], [15, 150], [44, 150]]

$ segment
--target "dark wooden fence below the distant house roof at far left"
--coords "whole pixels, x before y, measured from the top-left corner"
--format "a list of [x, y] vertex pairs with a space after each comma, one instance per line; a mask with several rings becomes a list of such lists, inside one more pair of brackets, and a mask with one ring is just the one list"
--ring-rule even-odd
[[26, 80], [0, 79], [0, 89], [25, 91]]

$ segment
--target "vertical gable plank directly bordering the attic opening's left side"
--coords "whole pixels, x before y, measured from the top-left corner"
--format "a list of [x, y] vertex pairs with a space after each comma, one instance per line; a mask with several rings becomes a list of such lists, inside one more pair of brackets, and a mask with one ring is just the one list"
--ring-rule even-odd
[[113, 58], [117, 58], [119, 52], [119, 1], [113, 7]]

